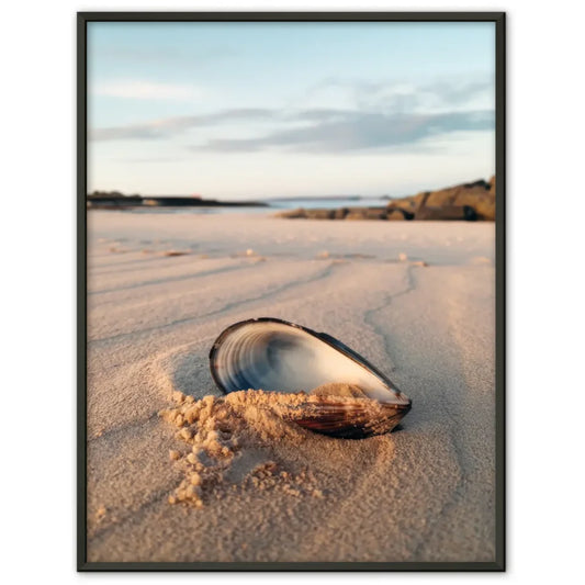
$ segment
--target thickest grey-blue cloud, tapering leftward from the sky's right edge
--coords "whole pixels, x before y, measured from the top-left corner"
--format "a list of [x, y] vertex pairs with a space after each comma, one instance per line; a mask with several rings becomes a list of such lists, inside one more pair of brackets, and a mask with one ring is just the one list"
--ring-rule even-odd
[[[326, 117], [326, 116], [324, 116]], [[262, 137], [212, 139], [194, 150], [222, 153], [273, 148], [310, 153], [345, 153], [413, 145], [452, 132], [494, 128], [494, 112], [451, 112], [434, 115], [347, 113], [345, 119], [323, 120], [310, 127], [282, 130]]]

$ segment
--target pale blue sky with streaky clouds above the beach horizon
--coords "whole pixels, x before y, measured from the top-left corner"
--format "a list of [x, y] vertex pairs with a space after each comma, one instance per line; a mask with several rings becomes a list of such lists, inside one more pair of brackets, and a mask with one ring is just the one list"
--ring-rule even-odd
[[406, 195], [495, 171], [494, 23], [88, 23], [88, 192]]

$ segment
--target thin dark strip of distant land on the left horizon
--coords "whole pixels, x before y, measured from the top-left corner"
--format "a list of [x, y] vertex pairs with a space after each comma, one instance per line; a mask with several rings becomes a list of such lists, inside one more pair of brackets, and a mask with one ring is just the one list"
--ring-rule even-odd
[[217, 201], [193, 196], [125, 195], [120, 191], [94, 191], [87, 196], [88, 209], [130, 210], [135, 207], [268, 207], [260, 201]]

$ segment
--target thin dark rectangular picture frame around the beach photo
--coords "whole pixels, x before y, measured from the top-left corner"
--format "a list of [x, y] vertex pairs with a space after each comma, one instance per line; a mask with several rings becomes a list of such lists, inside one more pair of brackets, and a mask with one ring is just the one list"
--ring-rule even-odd
[[[87, 25], [92, 22], [493, 22], [496, 111], [495, 562], [88, 562], [87, 560]], [[80, 12], [77, 14], [77, 570], [505, 571], [506, 567], [506, 15], [504, 12]]]

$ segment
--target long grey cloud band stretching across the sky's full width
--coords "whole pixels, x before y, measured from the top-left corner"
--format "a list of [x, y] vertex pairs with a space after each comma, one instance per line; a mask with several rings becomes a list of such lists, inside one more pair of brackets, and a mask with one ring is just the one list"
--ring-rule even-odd
[[[453, 132], [490, 131], [494, 128], [494, 117], [493, 110], [384, 114], [359, 110], [314, 109], [282, 114], [267, 109], [239, 109], [99, 128], [90, 133], [90, 138], [165, 139], [192, 127], [214, 126], [234, 120], [259, 120], [272, 121], [275, 127], [281, 127], [250, 138], [211, 138], [203, 144], [191, 146], [190, 149], [220, 153], [268, 149], [344, 153], [416, 145], [425, 138]], [[291, 123], [295, 125], [291, 127]]]

